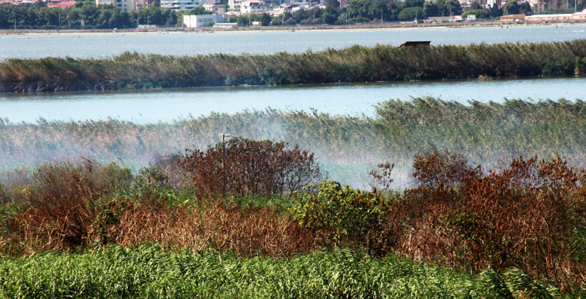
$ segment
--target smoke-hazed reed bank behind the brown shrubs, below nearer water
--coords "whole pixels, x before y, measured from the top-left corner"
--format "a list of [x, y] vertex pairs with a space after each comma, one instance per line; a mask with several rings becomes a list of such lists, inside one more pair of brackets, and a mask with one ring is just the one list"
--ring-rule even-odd
[[[435, 100], [390, 100], [374, 118], [288, 111], [244, 111], [138, 125], [123, 121], [0, 123], [0, 169], [11, 171], [50, 159], [86, 157], [124, 161], [139, 169], [157, 156], [205, 148], [220, 133], [284, 140], [315, 152], [331, 178], [362, 182], [380, 161], [408, 169], [417, 152], [445, 148], [494, 165], [519, 155], [564, 156], [584, 165], [583, 101], [509, 100], [468, 105]], [[365, 166], [366, 165], [366, 166]], [[357, 185], [359, 186], [359, 185]]]

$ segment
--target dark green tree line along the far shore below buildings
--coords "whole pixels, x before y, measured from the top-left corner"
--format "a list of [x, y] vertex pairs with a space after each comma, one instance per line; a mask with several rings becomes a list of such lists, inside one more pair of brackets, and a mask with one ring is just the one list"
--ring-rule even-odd
[[[585, 4], [585, 0], [578, 1], [578, 10]], [[260, 22], [263, 26], [343, 25], [362, 22], [411, 21], [434, 16], [475, 15], [477, 19], [484, 19], [515, 13], [531, 13], [528, 2], [518, 4], [516, 1], [509, 1], [502, 8], [492, 6], [488, 9], [482, 8], [479, 2], [473, 2], [465, 11], [458, 0], [405, 0], [404, 2], [353, 0], [347, 8], [340, 8], [338, 0], [327, 0], [325, 6], [325, 9], [299, 9], [275, 16], [267, 13], [231, 16], [229, 22], [238, 23], [239, 26], [251, 26], [253, 22]], [[189, 12], [162, 9], [156, 1], [149, 8], [131, 12], [121, 11], [114, 5], [96, 6], [91, 0], [79, 1], [67, 9], [49, 8], [46, 2], [38, 2], [30, 7], [17, 5], [0, 7], [0, 29], [113, 29], [137, 28], [142, 24], [180, 27], [183, 15], [205, 13], [212, 12], [206, 11], [203, 7], [196, 7]]]

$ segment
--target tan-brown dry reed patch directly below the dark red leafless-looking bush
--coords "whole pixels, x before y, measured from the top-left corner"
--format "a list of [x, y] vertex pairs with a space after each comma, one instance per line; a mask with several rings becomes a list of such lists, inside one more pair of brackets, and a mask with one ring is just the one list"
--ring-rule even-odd
[[240, 257], [292, 256], [316, 246], [310, 230], [270, 207], [219, 200], [206, 201], [203, 209], [167, 208], [156, 198], [137, 202], [129, 202], [120, 213], [118, 244], [156, 242], [199, 252], [229, 250]]

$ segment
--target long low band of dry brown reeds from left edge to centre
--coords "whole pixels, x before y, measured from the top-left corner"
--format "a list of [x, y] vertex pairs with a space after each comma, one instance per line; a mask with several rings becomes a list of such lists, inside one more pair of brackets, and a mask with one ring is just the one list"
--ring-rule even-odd
[[[100, 212], [76, 205], [58, 218], [30, 208], [14, 220], [16, 233], [3, 240], [3, 251], [26, 255], [88, 245], [159, 243], [197, 252], [229, 251], [240, 257], [288, 257], [318, 245], [311, 230], [299, 227], [290, 216], [271, 207], [207, 199], [204, 209], [170, 208], [163, 201], [160, 195], [152, 194], [134, 200], [114, 199]], [[112, 217], [104, 217], [107, 213]], [[18, 248], [9, 248], [8, 242], [18, 244]]]

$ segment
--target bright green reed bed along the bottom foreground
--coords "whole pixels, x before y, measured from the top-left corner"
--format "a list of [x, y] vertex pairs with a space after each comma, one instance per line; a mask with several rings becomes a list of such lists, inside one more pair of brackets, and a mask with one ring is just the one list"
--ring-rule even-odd
[[1, 298], [560, 298], [519, 270], [458, 273], [349, 250], [240, 259], [159, 246], [0, 260]]

